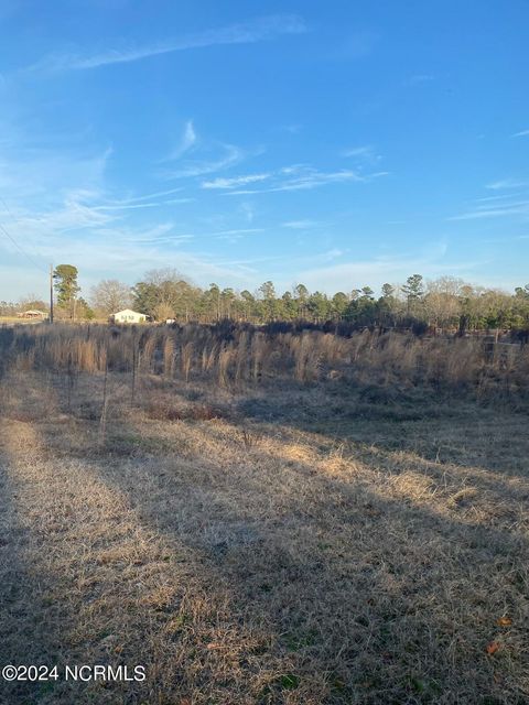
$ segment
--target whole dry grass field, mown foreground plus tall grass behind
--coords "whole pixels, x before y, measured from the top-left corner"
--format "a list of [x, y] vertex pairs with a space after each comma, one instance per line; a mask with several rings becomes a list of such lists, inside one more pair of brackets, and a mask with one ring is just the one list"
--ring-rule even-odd
[[0, 661], [147, 677], [1, 703], [529, 703], [525, 351], [45, 330], [2, 338]]

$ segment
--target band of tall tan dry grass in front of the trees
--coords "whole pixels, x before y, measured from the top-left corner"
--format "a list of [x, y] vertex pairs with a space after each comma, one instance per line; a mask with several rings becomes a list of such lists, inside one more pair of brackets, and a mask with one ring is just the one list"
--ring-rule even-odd
[[475, 338], [419, 338], [358, 332], [350, 337], [303, 330], [268, 334], [258, 328], [190, 324], [180, 328], [41, 325], [0, 329], [0, 371], [47, 370], [75, 383], [78, 372], [210, 380], [220, 387], [333, 378], [381, 386], [429, 384], [457, 390], [525, 392], [529, 347]]

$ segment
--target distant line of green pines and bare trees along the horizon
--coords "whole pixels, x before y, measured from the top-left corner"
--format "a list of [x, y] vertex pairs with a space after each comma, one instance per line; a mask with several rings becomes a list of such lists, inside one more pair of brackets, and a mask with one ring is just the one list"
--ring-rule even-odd
[[[442, 276], [425, 281], [412, 274], [401, 285], [386, 283], [379, 295], [370, 286], [338, 291], [332, 295], [310, 292], [304, 284], [278, 292], [267, 281], [257, 291], [222, 289], [212, 283], [199, 288], [172, 269], [147, 272], [129, 286], [104, 280], [79, 295], [78, 271], [60, 264], [54, 271], [55, 315], [65, 319], [106, 319], [122, 308], [133, 308], [151, 321], [212, 323], [222, 319], [255, 324], [274, 321], [310, 321], [315, 324], [348, 322], [358, 327], [385, 326], [443, 329], [517, 329], [529, 327], [529, 284], [512, 294], [474, 286], [461, 279]], [[28, 303], [28, 302], [26, 302]], [[0, 302], [0, 314], [12, 315], [13, 304]], [[45, 308], [44, 302], [31, 306]]]

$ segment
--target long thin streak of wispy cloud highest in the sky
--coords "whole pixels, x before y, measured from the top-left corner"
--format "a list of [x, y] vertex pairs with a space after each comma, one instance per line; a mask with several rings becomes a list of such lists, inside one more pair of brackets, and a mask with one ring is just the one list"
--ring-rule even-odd
[[276, 14], [249, 22], [205, 30], [180, 39], [145, 46], [122, 46], [100, 52], [57, 53], [44, 56], [29, 70], [80, 70], [111, 64], [137, 62], [160, 54], [171, 54], [193, 48], [227, 44], [252, 44], [272, 40], [283, 34], [301, 34], [306, 31], [302, 18], [296, 14]]

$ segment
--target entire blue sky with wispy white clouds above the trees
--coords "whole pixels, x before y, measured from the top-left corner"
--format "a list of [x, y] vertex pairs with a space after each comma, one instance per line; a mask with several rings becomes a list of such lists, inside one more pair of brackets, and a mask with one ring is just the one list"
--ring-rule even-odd
[[527, 283], [528, 26], [526, 0], [3, 0], [0, 299], [52, 261], [85, 294]]

